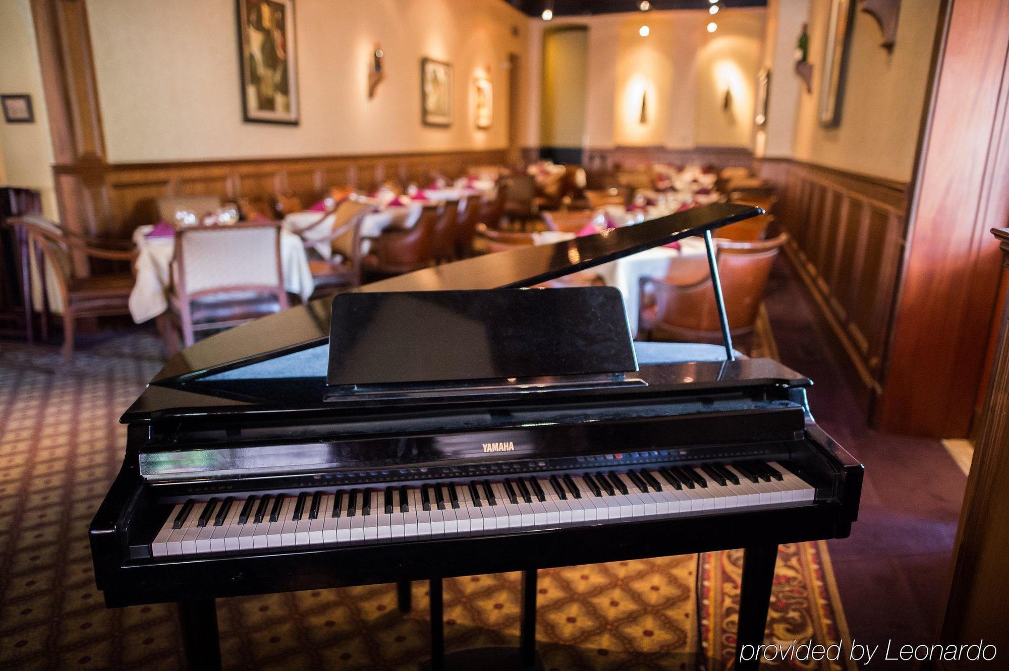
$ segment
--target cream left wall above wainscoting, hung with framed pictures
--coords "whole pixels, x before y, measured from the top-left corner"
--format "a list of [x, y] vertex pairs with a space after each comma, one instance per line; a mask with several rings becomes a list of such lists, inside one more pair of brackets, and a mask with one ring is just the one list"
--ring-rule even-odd
[[[242, 122], [233, 0], [88, 0], [109, 160], [507, 146], [506, 63], [509, 52], [522, 53], [528, 24], [509, 4], [299, 0], [296, 7], [302, 119], [283, 126]], [[385, 51], [385, 80], [368, 100], [375, 42]], [[422, 56], [454, 66], [451, 128], [421, 124]], [[493, 125], [485, 131], [475, 128], [473, 110], [480, 71], [494, 94]]]

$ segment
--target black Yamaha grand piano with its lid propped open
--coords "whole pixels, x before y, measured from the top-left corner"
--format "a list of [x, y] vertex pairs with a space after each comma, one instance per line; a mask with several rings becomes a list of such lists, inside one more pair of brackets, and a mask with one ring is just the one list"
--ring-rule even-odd
[[[468, 259], [187, 349], [122, 417], [90, 531], [107, 606], [177, 601], [191, 668], [218, 668], [217, 597], [398, 582], [409, 609], [430, 580], [428, 668], [540, 668], [537, 569], [743, 547], [738, 648], [761, 643], [778, 544], [858, 513], [810, 381], [737, 355], [724, 319], [712, 356], [632, 343], [615, 289], [521, 288], [692, 235], [717, 280], [711, 231], [758, 214]], [[520, 646], [446, 655], [441, 580], [516, 570]]]

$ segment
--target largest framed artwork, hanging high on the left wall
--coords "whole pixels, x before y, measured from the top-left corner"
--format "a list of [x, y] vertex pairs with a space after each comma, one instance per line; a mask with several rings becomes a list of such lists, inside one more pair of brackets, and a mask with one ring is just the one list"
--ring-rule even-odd
[[295, 0], [237, 0], [242, 118], [297, 124]]

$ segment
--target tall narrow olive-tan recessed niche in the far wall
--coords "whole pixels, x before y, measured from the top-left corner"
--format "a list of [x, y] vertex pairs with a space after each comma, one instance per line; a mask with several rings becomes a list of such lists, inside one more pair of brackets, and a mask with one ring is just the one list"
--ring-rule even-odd
[[548, 147], [580, 147], [585, 132], [588, 31], [569, 26], [543, 36], [540, 140]]

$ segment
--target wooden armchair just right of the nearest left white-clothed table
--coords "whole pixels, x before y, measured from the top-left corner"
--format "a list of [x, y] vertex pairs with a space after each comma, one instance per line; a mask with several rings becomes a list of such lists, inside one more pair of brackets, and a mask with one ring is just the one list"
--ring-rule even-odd
[[[315, 282], [313, 297], [334, 294], [344, 289], [352, 289], [361, 284], [361, 224], [364, 218], [375, 211], [374, 206], [356, 200], [344, 200], [332, 211], [323, 215], [323, 220], [296, 231], [300, 235], [317, 230], [326, 218], [333, 217], [331, 231], [322, 237], [302, 235], [302, 241], [309, 251], [309, 271]], [[330, 245], [330, 256], [322, 258], [313, 253], [320, 244]]]

